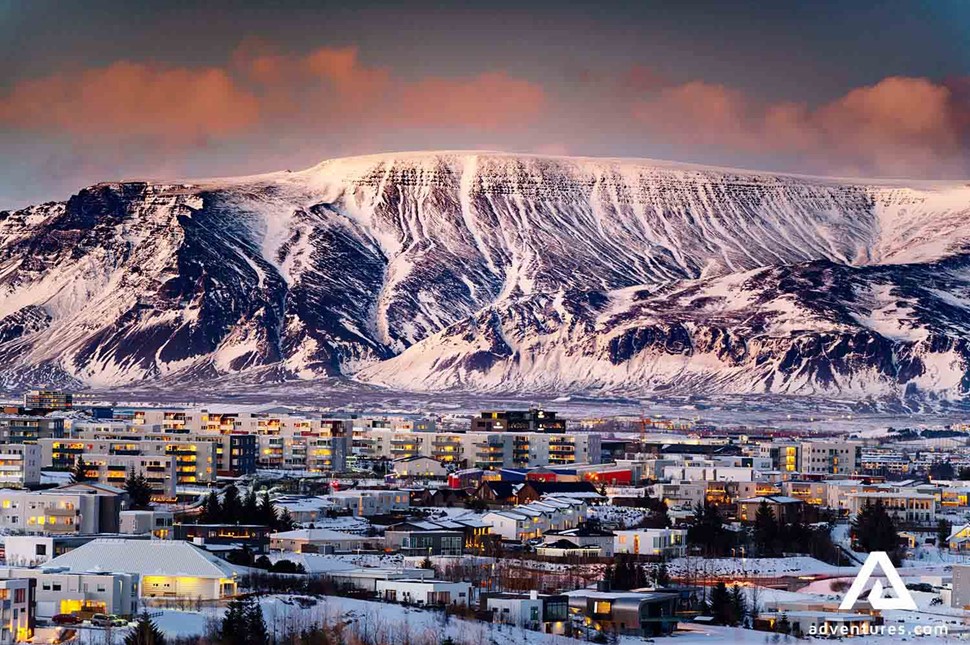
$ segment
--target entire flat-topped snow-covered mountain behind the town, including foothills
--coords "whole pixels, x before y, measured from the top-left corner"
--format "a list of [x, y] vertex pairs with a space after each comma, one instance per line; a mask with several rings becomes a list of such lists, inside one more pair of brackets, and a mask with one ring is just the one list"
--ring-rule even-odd
[[0, 379], [970, 391], [970, 186], [403, 153], [0, 213]]

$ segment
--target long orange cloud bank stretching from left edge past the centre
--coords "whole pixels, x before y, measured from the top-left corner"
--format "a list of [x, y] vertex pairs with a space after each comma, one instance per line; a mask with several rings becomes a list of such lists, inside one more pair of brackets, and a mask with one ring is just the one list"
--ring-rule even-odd
[[501, 70], [404, 79], [366, 65], [356, 47], [292, 55], [249, 41], [224, 68], [120, 61], [20, 82], [0, 96], [0, 127], [169, 146], [253, 133], [494, 131], [535, 119], [544, 100], [540, 85]]

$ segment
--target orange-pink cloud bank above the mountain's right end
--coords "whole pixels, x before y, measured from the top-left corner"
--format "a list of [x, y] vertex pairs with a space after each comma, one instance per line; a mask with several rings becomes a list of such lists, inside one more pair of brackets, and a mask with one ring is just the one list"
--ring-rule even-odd
[[822, 172], [925, 176], [967, 171], [966, 105], [946, 84], [894, 76], [814, 108], [692, 81], [635, 102], [632, 113], [649, 136], [695, 150], [799, 156]]

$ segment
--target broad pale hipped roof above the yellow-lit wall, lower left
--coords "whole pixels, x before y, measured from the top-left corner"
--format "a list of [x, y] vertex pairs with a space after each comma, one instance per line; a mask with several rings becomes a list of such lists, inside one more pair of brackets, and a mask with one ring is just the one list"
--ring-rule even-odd
[[181, 540], [97, 539], [49, 560], [45, 568], [76, 573], [119, 572], [143, 576], [231, 578], [240, 570]]

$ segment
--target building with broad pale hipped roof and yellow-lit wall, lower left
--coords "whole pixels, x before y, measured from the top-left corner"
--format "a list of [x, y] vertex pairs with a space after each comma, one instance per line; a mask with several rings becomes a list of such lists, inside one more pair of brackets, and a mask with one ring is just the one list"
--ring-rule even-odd
[[218, 600], [236, 593], [237, 569], [188, 542], [97, 539], [47, 563], [74, 573], [137, 574], [144, 598]]

